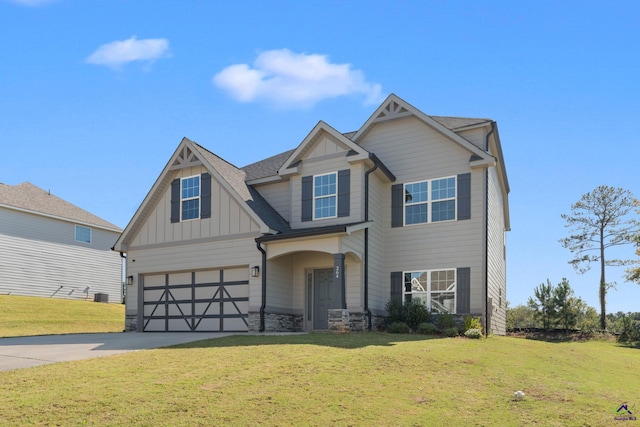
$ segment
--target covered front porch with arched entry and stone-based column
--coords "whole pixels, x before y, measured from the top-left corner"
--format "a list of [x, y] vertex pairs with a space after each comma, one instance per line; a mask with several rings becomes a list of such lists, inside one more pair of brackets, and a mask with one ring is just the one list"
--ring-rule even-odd
[[257, 239], [263, 252], [259, 311], [249, 330], [365, 330], [364, 228], [341, 226], [305, 235]]

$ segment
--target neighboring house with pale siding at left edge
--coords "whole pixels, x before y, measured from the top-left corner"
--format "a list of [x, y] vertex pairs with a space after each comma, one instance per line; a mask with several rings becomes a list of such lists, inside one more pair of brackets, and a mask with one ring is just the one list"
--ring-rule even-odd
[[121, 232], [31, 183], [0, 184], [0, 294], [121, 303]]

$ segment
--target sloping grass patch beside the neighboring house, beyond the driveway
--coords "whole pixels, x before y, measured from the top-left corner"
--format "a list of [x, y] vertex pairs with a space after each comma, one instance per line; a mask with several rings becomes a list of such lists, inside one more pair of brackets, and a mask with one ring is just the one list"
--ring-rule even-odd
[[122, 304], [0, 295], [0, 338], [122, 332], [123, 328]]

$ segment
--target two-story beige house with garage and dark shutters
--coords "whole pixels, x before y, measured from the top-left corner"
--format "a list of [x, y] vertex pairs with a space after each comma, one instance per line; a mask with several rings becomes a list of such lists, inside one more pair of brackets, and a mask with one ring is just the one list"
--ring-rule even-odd
[[185, 138], [114, 247], [127, 328], [367, 330], [399, 298], [504, 334], [508, 193], [494, 121], [395, 95], [244, 168]]

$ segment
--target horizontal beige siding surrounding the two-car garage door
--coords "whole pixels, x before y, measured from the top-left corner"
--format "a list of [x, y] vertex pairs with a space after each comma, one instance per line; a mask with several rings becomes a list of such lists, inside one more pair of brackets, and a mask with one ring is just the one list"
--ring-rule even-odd
[[[127, 253], [127, 275], [134, 277], [134, 284], [127, 286], [127, 315], [137, 313], [138, 281], [142, 275], [230, 267], [249, 269], [254, 265], [262, 265], [261, 253], [256, 248], [254, 238], [130, 248]], [[261, 277], [249, 277], [250, 310], [260, 308], [261, 281]]]

